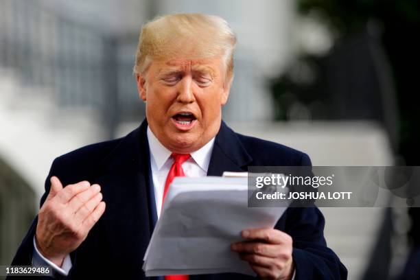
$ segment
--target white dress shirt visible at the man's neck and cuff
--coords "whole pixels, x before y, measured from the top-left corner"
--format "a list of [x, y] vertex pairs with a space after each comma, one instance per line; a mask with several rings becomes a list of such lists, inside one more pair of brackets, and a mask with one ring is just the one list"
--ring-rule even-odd
[[[150, 165], [152, 169], [154, 199], [156, 202], [156, 212], [159, 217], [161, 215], [163, 190], [167, 174], [170, 171], [174, 159], [170, 158], [172, 152], [167, 150], [164, 145], [154, 136], [152, 130], [148, 127], [147, 131], [149, 149], [150, 149]], [[201, 177], [207, 175], [209, 168], [211, 152], [213, 151], [214, 138], [211, 139], [196, 152], [191, 152], [191, 157], [183, 163], [183, 170], [187, 177]], [[67, 276], [71, 269], [70, 255], [67, 255], [62, 263], [61, 268], [44, 257], [36, 247], [34, 237], [34, 250], [32, 253], [32, 264], [34, 266], [51, 266], [54, 272]]]

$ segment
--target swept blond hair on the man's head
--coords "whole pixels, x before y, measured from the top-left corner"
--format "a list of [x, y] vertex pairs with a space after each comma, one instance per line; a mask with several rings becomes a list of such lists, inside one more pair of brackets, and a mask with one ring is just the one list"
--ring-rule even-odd
[[133, 73], [143, 73], [152, 59], [222, 56], [226, 76], [231, 77], [235, 44], [235, 34], [228, 23], [219, 16], [160, 16], [143, 25], [141, 29]]

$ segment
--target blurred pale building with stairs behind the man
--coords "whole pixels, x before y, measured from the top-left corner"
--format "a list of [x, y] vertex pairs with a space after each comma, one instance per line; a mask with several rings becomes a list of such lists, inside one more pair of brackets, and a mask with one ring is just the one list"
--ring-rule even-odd
[[[13, 176], [23, 179], [0, 180], [5, 209], [0, 237], [19, 236], [0, 250], [0, 261], [11, 257], [9, 249], [27, 229], [25, 222], [13, 224], [4, 216], [11, 203], [21, 203], [14, 207], [18, 216], [20, 207], [32, 207], [35, 213], [56, 156], [139, 125], [144, 106], [131, 75], [139, 30], [154, 16], [174, 12], [215, 14], [236, 32], [235, 80], [224, 119], [239, 132], [303, 150], [314, 165], [391, 164], [386, 135], [377, 126], [270, 124], [268, 78], [279, 75], [296, 54], [292, 0], [0, 0], [0, 158], [17, 174]], [[324, 43], [316, 40], [311, 42], [321, 49], [331, 43], [328, 36]], [[5, 191], [16, 184], [32, 188], [35, 195], [27, 196], [33, 204], [11, 199], [26, 195]], [[357, 279], [380, 213], [355, 217], [342, 211], [325, 211], [326, 235], [351, 270], [349, 278]], [[342, 215], [353, 219], [343, 224]]]

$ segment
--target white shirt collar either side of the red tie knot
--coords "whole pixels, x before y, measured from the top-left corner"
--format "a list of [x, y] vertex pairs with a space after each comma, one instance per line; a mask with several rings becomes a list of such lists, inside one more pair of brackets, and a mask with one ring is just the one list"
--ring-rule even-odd
[[[149, 148], [150, 148], [150, 155], [153, 157], [154, 162], [156, 163], [156, 166], [158, 167], [158, 170], [161, 170], [167, 159], [170, 158], [172, 152], [170, 150], [167, 150], [164, 145], [162, 145], [161, 142], [154, 136], [152, 130], [150, 130], [150, 127], [148, 126], [148, 141], [149, 141]], [[213, 137], [209, 142], [207, 142], [204, 146], [202, 146], [200, 149], [196, 150], [195, 152], [191, 152], [191, 158], [194, 159], [194, 161], [197, 163], [200, 168], [207, 172], [209, 169], [210, 164], [210, 158], [211, 158], [211, 152], [213, 151], [213, 145], [214, 145], [214, 139]]]

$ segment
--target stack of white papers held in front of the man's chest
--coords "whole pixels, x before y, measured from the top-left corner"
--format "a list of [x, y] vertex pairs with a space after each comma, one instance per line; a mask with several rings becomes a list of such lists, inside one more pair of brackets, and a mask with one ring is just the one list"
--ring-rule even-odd
[[285, 208], [248, 208], [247, 185], [247, 178], [175, 178], [145, 253], [146, 276], [255, 275], [230, 246], [243, 229], [274, 227]]

